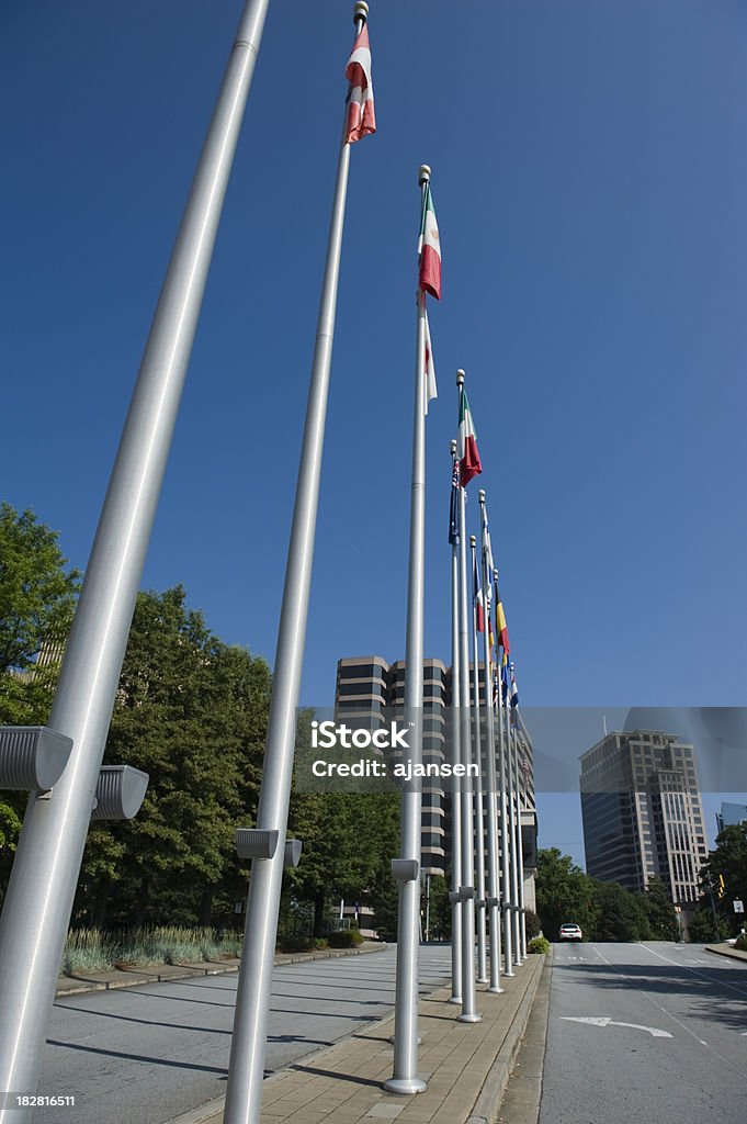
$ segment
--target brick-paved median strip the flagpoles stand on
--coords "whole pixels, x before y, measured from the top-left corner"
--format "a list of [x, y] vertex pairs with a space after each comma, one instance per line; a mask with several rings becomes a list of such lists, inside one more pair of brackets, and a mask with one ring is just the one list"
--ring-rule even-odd
[[[425, 1093], [394, 1096], [382, 1082], [392, 1076], [393, 1015], [318, 1050], [264, 1082], [262, 1124], [371, 1124], [376, 1120], [418, 1124], [490, 1124], [495, 1120], [521, 1043], [546, 958], [531, 955], [503, 995], [477, 990], [481, 1023], [457, 1021], [449, 988], [420, 1000], [419, 1075]], [[221, 1124], [224, 1100], [171, 1124]]]

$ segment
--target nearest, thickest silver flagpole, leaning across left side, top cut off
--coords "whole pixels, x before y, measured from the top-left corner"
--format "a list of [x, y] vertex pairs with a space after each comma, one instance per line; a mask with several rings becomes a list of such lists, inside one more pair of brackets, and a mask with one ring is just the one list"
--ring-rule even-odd
[[[135, 599], [268, 0], [248, 0], [151, 326], [49, 717], [73, 741], [33, 792], [0, 922], [0, 1089], [33, 1095]], [[3, 1124], [30, 1109], [0, 1105]]]

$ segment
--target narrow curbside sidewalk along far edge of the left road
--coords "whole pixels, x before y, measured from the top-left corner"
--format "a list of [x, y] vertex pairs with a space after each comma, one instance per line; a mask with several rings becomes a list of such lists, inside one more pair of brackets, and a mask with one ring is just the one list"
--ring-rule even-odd
[[[337, 957], [359, 957], [367, 952], [382, 952], [386, 948], [379, 941], [364, 941], [357, 949], [322, 949], [318, 952], [279, 952], [275, 964], [300, 964], [308, 960], [334, 960]], [[86, 991], [113, 991], [121, 987], [142, 987], [144, 984], [167, 984], [170, 980], [192, 979], [195, 976], [222, 976], [237, 972], [240, 961], [201, 961], [194, 964], [153, 964], [149, 967], [112, 968], [108, 972], [76, 972], [57, 980], [57, 999]]]

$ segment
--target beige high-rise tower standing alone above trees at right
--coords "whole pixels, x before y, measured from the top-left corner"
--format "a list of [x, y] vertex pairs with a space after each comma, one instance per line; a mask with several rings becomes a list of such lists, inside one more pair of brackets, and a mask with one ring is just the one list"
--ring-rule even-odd
[[611, 733], [581, 758], [586, 871], [645, 890], [661, 878], [675, 904], [700, 897], [708, 858], [694, 746], [662, 731]]

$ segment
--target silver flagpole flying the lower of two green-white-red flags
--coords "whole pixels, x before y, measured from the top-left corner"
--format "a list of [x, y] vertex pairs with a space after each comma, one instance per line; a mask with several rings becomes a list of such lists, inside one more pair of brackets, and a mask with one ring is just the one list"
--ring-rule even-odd
[[[456, 386], [464, 384], [464, 371], [456, 372]], [[459, 488], [459, 744], [462, 764], [472, 763], [470, 736], [470, 642], [467, 624], [467, 513], [466, 490]], [[474, 801], [472, 779], [464, 778], [462, 789], [462, 1014], [459, 1022], [479, 1023], [475, 1008], [475, 886], [474, 886]]]

